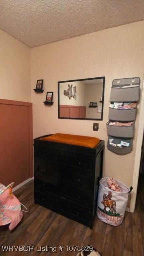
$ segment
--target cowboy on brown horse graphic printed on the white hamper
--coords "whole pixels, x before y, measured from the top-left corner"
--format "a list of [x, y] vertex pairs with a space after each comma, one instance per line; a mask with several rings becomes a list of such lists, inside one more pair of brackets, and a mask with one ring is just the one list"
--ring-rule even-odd
[[101, 203], [104, 205], [105, 212], [106, 212], [106, 208], [108, 207], [111, 211], [111, 214], [113, 214], [113, 212], [116, 214], [116, 202], [111, 198], [112, 198], [112, 192], [108, 191], [108, 195], [106, 195], [105, 193], [103, 194], [103, 200]]

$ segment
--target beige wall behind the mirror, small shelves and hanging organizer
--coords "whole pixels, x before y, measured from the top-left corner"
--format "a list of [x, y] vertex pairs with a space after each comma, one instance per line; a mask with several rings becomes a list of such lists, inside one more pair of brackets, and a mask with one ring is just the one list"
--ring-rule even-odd
[[[128, 186], [132, 184], [138, 130], [139, 108], [135, 122], [133, 150], [119, 156], [107, 150], [106, 122], [112, 80], [135, 77], [144, 72], [144, 21], [111, 28], [31, 50], [31, 90], [34, 137], [56, 132], [99, 137], [105, 140], [103, 176], [113, 176]], [[58, 119], [57, 81], [105, 76], [104, 114], [99, 131], [90, 120]], [[44, 93], [33, 89], [37, 79], [44, 79]], [[46, 107], [47, 91], [53, 91], [54, 104]]]

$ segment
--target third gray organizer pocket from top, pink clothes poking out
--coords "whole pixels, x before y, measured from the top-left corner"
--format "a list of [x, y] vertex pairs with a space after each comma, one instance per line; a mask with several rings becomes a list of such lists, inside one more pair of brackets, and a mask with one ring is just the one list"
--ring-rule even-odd
[[115, 137], [132, 138], [134, 136], [134, 124], [130, 126], [117, 126], [106, 124], [107, 134]]

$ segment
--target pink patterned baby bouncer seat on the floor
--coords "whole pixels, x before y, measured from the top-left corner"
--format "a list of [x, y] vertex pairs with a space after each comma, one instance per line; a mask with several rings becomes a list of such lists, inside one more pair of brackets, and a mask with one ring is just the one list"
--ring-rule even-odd
[[11, 187], [13, 184], [14, 182], [5, 187], [0, 183], [0, 226], [10, 223], [9, 230], [14, 229], [21, 221], [23, 217], [22, 211], [28, 212], [27, 209], [21, 210], [22, 204], [12, 194]]

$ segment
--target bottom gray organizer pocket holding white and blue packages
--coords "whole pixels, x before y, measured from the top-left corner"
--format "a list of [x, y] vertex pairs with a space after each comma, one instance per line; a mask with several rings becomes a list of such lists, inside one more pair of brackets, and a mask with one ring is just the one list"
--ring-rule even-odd
[[[115, 144], [120, 144], [121, 141], [124, 141], [124, 142], [130, 143], [130, 145], [128, 147], [125, 146], [123, 148], [114, 147], [111, 144], [109, 144], [109, 139], [113, 139], [112, 143], [115, 143]], [[128, 154], [132, 151], [132, 139], [108, 136], [107, 148], [110, 151], [112, 151], [113, 153], [118, 154], [118, 155]]]

